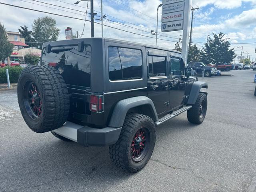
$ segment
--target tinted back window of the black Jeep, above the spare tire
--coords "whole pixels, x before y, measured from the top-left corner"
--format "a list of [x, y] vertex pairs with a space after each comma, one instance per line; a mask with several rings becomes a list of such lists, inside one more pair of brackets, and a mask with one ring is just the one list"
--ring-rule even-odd
[[43, 51], [42, 64], [55, 67], [67, 85], [90, 87], [90, 45], [84, 46], [83, 52], [78, 51], [78, 46], [52, 47], [50, 53]]

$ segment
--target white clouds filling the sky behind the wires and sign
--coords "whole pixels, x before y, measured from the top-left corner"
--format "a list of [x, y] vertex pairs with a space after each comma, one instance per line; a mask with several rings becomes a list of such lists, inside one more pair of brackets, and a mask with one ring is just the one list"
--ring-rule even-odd
[[[28, 1], [28, 0], [25, 0]], [[76, 9], [76, 10], [80, 10], [80, 11], [85, 11], [87, 2], [82, 1], [78, 4], [78, 6], [74, 5], [74, 2], [76, 0], [62, 0], [64, 2], [68, 2], [70, 4], [66, 4], [66, 3], [62, 3], [59, 1], [55, 1], [55, 0], [48, 0], [47, 3], [50, 4], [56, 4], [58, 6], [64, 6], [66, 8], [72, 8], [72, 9]], [[118, 22], [122, 22], [123, 24], [126, 24], [128, 26], [132, 26], [135, 28], [139, 28], [142, 30], [145, 30], [146, 32], [142, 32], [142, 31], [138, 31], [136, 29], [132, 29], [132, 28], [127, 28], [126, 26], [119, 26], [114, 24], [114, 23], [108, 23], [107, 21], [104, 21], [104, 24], [115, 27], [115, 28], [120, 28], [122, 30], [125, 31], [130, 31], [130, 32], [134, 32], [134, 33], [139, 33], [139, 34], [144, 34], [146, 36], [150, 36], [150, 37], [155, 37], [153, 35], [150, 34], [150, 30], [154, 30], [156, 31], [156, 8], [157, 6], [161, 3], [161, 0], [148, 0], [148, 1], [136, 1], [136, 0], [118, 0], [120, 2], [122, 2], [123, 4], [126, 4], [136, 10], [139, 10], [140, 12], [142, 12], [143, 14], [140, 14], [122, 4], [119, 4], [119, 6], [117, 6], [116, 4], [118, 4], [116, 2], [116, 4], [113, 3], [113, 1], [107, 1], [104, 0], [103, 1], [103, 12], [104, 14], [107, 14], [109, 16], [106, 17], [106, 19], [110, 19], [110, 20], [115, 20], [115, 18], [112, 18], [110, 16], [114, 16], [116, 18], [119, 18], [121, 20], [127, 21], [127, 22], [123, 22], [118, 20]], [[254, 0], [255, 1], [255, 0]], [[61, 10], [56, 10], [56, 9], [52, 9], [52, 8], [46, 8], [43, 6], [39, 6], [39, 5], [35, 5], [35, 4], [31, 4], [31, 3], [27, 3], [27, 2], [22, 2], [22, 1], [17, 1], [17, 0], [1, 0], [1, 2], [7, 3], [7, 4], [13, 4], [13, 5], [17, 5], [17, 6], [22, 6], [22, 7], [26, 7], [26, 8], [32, 8], [32, 9], [36, 9], [36, 10], [42, 10], [42, 11], [46, 11], [46, 12], [52, 12], [55, 14], [62, 14], [62, 15], [66, 15], [66, 16], [72, 16], [72, 17], [77, 17], [77, 18], [85, 18], [85, 16], [79, 15], [82, 14], [81, 12], [77, 12], [78, 14], [74, 14], [74, 13], [68, 13], [68, 12], [64, 12]], [[29, 1], [32, 2], [32, 1]], [[45, 1], [44, 1], [45, 2]], [[212, 32], [214, 33], [218, 33], [220, 31], [226, 33], [227, 35], [225, 37], [230, 38], [231, 40], [233, 40], [233, 42], [241, 42], [242, 40], [247, 40], [247, 41], [251, 41], [251, 42], [255, 42], [255, 30], [252, 30], [255, 26], [255, 9], [252, 8], [251, 4], [250, 6], [248, 6], [248, 4], [246, 4], [248, 6], [247, 11], [242, 12], [241, 14], [237, 14], [236, 12], [231, 12], [230, 10], [227, 10], [227, 15], [226, 18], [223, 16], [222, 19], [218, 19], [218, 20], [210, 20], [211, 17], [213, 17], [214, 13], [218, 13], [218, 11], [220, 9], [228, 9], [228, 4], [231, 5], [231, 7], [239, 7], [240, 0], [237, 1], [232, 1], [232, 2], [227, 2], [225, 0], [222, 1], [216, 1], [216, 0], [198, 0], [198, 1], [192, 1], [195, 4], [198, 4], [201, 7], [206, 6], [206, 5], [212, 5], [211, 7], [209, 7], [206, 12], [204, 12], [204, 14], [201, 14], [201, 12], [199, 12], [200, 10], [198, 10], [198, 12], [202, 15], [202, 18], [200, 18], [198, 16], [198, 14], [196, 14], [196, 24], [197, 22], [202, 23], [201, 26], [195, 26], [194, 30], [193, 30], [193, 41], [200, 41], [200, 42], [206, 42], [206, 36], [208, 34], [212, 34]], [[253, 1], [251, 1], [252, 3], [254, 3]], [[37, 3], [40, 4], [39, 2], [33, 2], [33, 3]], [[94, 10], [95, 11], [100, 11], [98, 3], [100, 4], [100, 1], [95, 0], [94, 1]], [[242, 2], [243, 4], [243, 2]], [[42, 5], [46, 5], [46, 4], [42, 4]], [[194, 6], [194, 4], [192, 4]], [[59, 8], [62, 10], [67, 10], [65, 8], [60, 8], [60, 7], [54, 7], [51, 5], [46, 5], [46, 6], [50, 6], [53, 8]], [[79, 7], [82, 6], [82, 7]], [[88, 8], [90, 8], [90, 3]], [[126, 10], [124, 10], [126, 9]], [[129, 10], [129, 11], [128, 11]], [[75, 10], [67, 10], [70, 12], [75, 12]], [[88, 10], [88, 12], [90, 12], [90, 10]], [[98, 12], [97, 12], [98, 13]], [[253, 15], [254, 13], [254, 15]], [[145, 16], [144, 14], [150, 16]], [[159, 15], [161, 15], [161, 8], [159, 9]], [[84, 26], [84, 21], [82, 20], [74, 20], [71, 18], [65, 18], [65, 17], [61, 17], [61, 16], [54, 16], [54, 15], [49, 15], [49, 14], [45, 14], [45, 13], [40, 13], [40, 12], [35, 12], [32, 10], [24, 10], [24, 9], [20, 9], [20, 8], [14, 8], [11, 6], [6, 6], [6, 5], [2, 5], [0, 4], [0, 22], [1, 24], [5, 24], [6, 30], [12, 30], [12, 31], [18, 31], [18, 28], [20, 28], [20, 26], [24, 26], [24, 24], [26, 24], [26, 26], [28, 26], [28, 28], [31, 30], [31, 24], [33, 22], [34, 19], [38, 18], [38, 17], [42, 17], [42, 16], [50, 16], [52, 18], [56, 19], [57, 22], [57, 27], [60, 28], [61, 32], [60, 32], [60, 36], [59, 36], [59, 40], [63, 40], [65, 39], [65, 28], [67, 26], [70, 26], [71, 28], [73, 28], [73, 33], [75, 33], [76, 31], [79, 32], [79, 34], [82, 33], [82, 29]], [[100, 16], [100, 13], [97, 14], [97, 16]], [[97, 17], [96, 18], [99, 18]], [[230, 17], [230, 18], [229, 18]], [[155, 18], [155, 19], [153, 19]], [[88, 20], [90, 20], [90, 18], [87, 18]], [[158, 18], [160, 20], [160, 17]], [[212, 21], [212, 22], [211, 22]], [[134, 26], [130, 23], [134, 23], [136, 25], [145, 27], [145, 28], [140, 28], [138, 26]], [[254, 26], [253, 26], [254, 23]], [[160, 23], [159, 24], [159, 28], [160, 28]], [[247, 27], [249, 26], [249, 27]], [[94, 24], [95, 27], [95, 36], [96, 37], [101, 37], [101, 26], [100, 24]], [[160, 31], [160, 30], [158, 30]], [[166, 33], [159, 33], [158, 34], [158, 38], [162, 38], [162, 39], [167, 39], [167, 40], [173, 40], [173, 41], [178, 41], [177, 38], [182, 36], [179, 36], [180, 34], [182, 34], [182, 31], [175, 31], [175, 32], [166, 32]], [[174, 38], [166, 38], [160, 35], [164, 35], [164, 36], [174, 36], [176, 39]], [[86, 22], [86, 26], [85, 26], [85, 30], [84, 30], [84, 36], [83, 38], [88, 38], [90, 37], [90, 22]], [[126, 40], [126, 41], [131, 41], [131, 42], [138, 42], [138, 43], [143, 43], [143, 44], [150, 44], [150, 45], [154, 45], [155, 44], [155, 38], [147, 38], [144, 36], [139, 36], [136, 34], [130, 34], [124, 31], [120, 31], [120, 30], [116, 30], [113, 28], [109, 28], [104, 26], [104, 37], [109, 37], [109, 38], [116, 38], [116, 39], [121, 39], [121, 40]], [[175, 42], [168, 42], [166, 40], [158, 40], [158, 45], [162, 46], [162, 47], [168, 47], [168, 48], [174, 48], [174, 44]], [[181, 44], [180, 44], [181, 45]], [[201, 44], [202, 45], [202, 44]], [[254, 44], [250, 45], [250, 49], [252, 49], [251, 47], [255, 46]], [[246, 46], [245, 46], [246, 47]], [[252, 52], [252, 50], [250, 50], [250, 52]], [[255, 57], [255, 54], [254, 54]]]

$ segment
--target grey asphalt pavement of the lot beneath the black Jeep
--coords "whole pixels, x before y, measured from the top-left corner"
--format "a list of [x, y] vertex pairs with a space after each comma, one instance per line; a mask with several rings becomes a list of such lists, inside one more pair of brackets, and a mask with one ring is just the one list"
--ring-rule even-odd
[[[0, 191], [255, 191], [255, 71], [204, 78], [204, 122], [186, 113], [157, 127], [156, 146], [136, 174], [117, 168], [108, 147], [83, 147], [32, 132], [16, 90], [0, 91]], [[202, 80], [202, 77], [198, 77]]]

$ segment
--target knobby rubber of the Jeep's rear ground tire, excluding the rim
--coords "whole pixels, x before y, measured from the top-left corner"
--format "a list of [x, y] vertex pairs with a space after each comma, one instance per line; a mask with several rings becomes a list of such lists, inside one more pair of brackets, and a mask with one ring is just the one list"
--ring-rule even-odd
[[[146, 143], [149, 144], [149, 148], [146, 155], [140, 162], [134, 162], [131, 155], [132, 140], [136, 132], [144, 126], [148, 127], [148, 130], [150, 132], [150, 141], [149, 143]], [[144, 166], [146, 166], [146, 164], [150, 160], [150, 157], [154, 150], [155, 142], [156, 131], [153, 120], [150, 117], [142, 114], [127, 114], [118, 141], [116, 142], [116, 144], [109, 146], [110, 158], [112, 159], [114, 164], [116, 164], [116, 166], [128, 172], [138, 172], [142, 168], [144, 168]]]

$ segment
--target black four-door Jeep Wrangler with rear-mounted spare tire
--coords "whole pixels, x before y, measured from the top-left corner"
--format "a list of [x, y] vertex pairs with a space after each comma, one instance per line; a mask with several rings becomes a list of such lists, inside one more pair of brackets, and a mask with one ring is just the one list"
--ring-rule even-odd
[[180, 52], [108, 38], [44, 43], [40, 64], [18, 80], [28, 126], [84, 146], [109, 145], [114, 164], [138, 172], [150, 159], [156, 126], [187, 111], [200, 124], [207, 84]]

